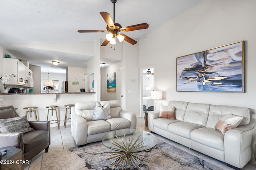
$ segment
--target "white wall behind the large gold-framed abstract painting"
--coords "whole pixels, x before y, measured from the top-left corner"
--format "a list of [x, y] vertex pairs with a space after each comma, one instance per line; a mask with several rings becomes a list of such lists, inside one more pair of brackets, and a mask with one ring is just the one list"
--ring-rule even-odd
[[[205, 0], [140, 39], [140, 68], [154, 65], [155, 90], [170, 100], [248, 107], [256, 113], [255, 0]], [[164, 31], [163, 31], [164, 30]], [[159, 34], [164, 33], [164, 36]], [[245, 92], [176, 92], [176, 57], [245, 41]]]

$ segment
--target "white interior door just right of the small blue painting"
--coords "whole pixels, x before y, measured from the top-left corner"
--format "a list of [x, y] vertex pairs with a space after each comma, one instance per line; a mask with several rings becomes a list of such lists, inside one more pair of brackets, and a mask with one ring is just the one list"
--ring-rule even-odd
[[121, 102], [122, 109], [125, 110], [125, 83], [124, 83], [124, 68], [118, 70], [118, 97], [117, 99]]

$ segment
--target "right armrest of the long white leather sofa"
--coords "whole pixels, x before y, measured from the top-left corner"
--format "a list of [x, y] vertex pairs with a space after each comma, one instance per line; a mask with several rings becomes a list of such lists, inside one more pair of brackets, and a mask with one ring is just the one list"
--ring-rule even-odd
[[224, 135], [225, 162], [238, 168], [242, 168], [247, 164], [254, 155], [256, 114], [250, 115], [250, 123], [248, 125], [229, 129]]

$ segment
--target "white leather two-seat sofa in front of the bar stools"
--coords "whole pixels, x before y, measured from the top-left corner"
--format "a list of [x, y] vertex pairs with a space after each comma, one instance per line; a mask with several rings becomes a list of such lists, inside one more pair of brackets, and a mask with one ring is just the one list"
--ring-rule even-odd
[[136, 129], [136, 114], [121, 108], [118, 100], [102, 101], [100, 105], [110, 103], [111, 118], [94, 120], [94, 106], [96, 102], [78, 102], [71, 109], [71, 133], [78, 147], [87, 143], [101, 141], [102, 137], [118, 129]]

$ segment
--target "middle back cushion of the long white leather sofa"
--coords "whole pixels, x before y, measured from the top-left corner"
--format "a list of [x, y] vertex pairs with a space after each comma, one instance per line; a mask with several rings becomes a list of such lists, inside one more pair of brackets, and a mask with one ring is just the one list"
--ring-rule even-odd
[[185, 112], [184, 122], [206, 126], [209, 109], [209, 104], [189, 103]]

